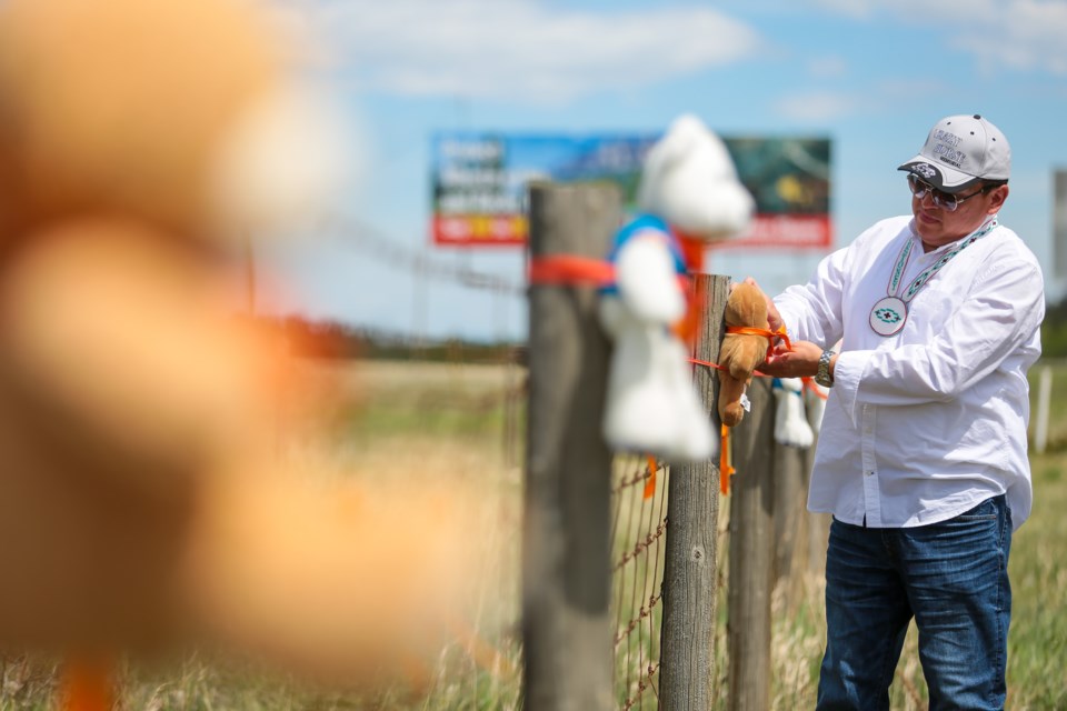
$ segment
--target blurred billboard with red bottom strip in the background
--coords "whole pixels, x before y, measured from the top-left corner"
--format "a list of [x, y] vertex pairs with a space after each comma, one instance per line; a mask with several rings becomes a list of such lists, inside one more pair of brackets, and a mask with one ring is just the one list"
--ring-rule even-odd
[[[645, 154], [659, 138], [438, 133], [431, 144], [433, 242], [525, 244], [526, 188], [532, 180], [609, 180], [635, 210]], [[717, 247], [828, 249], [832, 243], [829, 139], [722, 140], [741, 182], [756, 199], [757, 214], [748, 232]]]

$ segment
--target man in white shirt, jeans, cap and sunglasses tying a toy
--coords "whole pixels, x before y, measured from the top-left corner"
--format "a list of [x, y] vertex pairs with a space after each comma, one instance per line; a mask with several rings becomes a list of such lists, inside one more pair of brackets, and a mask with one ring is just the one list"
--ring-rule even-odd
[[808, 498], [834, 514], [818, 708], [888, 709], [914, 617], [930, 709], [1000, 709], [1044, 282], [997, 220], [1010, 149], [993, 123], [947, 117], [899, 170], [911, 216], [769, 304], [792, 350], [760, 370], [831, 385]]

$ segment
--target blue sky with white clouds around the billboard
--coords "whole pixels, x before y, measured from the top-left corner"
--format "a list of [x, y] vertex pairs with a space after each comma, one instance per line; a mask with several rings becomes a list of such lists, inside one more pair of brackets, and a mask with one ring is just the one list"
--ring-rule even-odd
[[[332, 94], [360, 166], [335, 228], [262, 254], [283, 294], [263, 307], [432, 338], [526, 334], [515, 249], [436, 248], [436, 131], [647, 133], [694, 112], [729, 136], [832, 141], [835, 244], [909, 209], [896, 167], [937, 119], [981, 113], [1013, 148], [1001, 222], [1053, 273], [1053, 171], [1067, 170], [1064, 0], [277, 0], [316, 38], [308, 71]], [[346, 227], [340, 228], [338, 224]], [[768, 290], [820, 254], [715, 254]], [[420, 271], [421, 269], [421, 271]], [[1059, 276], [1064, 277], [1064, 276]]]

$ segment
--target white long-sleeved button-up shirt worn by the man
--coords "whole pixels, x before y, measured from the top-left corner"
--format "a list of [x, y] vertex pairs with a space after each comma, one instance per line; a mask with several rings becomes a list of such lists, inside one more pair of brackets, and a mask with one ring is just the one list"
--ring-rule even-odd
[[914, 527], [1007, 493], [1018, 528], [1033, 499], [1026, 371], [1040, 356], [1040, 267], [997, 227], [919, 289], [899, 332], [879, 336], [870, 311], [906, 240], [915, 244], [898, 296], [960, 243], [924, 253], [910, 217], [884, 220], [775, 299], [791, 339], [841, 341], [808, 508], [856, 525]]

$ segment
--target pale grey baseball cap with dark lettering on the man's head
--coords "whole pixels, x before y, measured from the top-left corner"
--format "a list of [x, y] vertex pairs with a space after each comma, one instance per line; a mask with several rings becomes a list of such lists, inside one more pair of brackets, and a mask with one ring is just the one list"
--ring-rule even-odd
[[961, 192], [979, 180], [1007, 182], [1011, 147], [1000, 129], [977, 113], [950, 116], [934, 124], [919, 154], [897, 170], [945, 192]]

